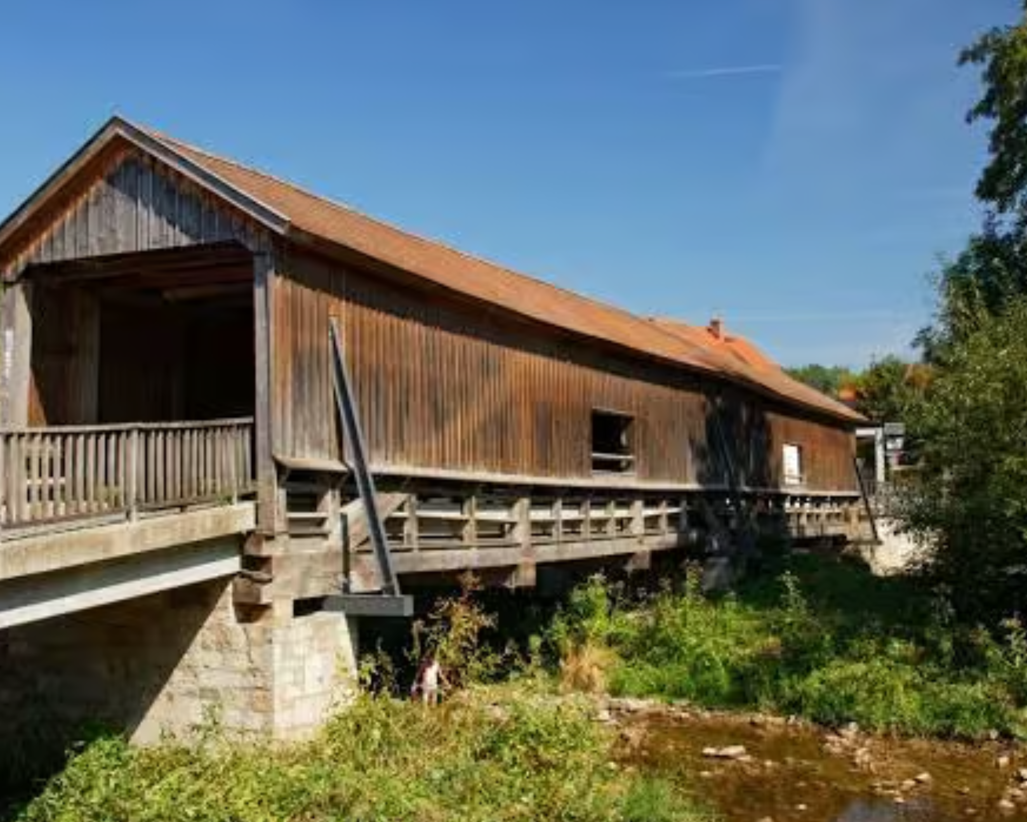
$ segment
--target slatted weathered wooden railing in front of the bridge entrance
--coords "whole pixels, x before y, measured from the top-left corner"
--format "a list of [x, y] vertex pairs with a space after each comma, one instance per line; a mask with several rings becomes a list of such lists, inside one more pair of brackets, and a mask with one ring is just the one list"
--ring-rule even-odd
[[0, 533], [224, 501], [254, 488], [253, 418], [0, 428]]

